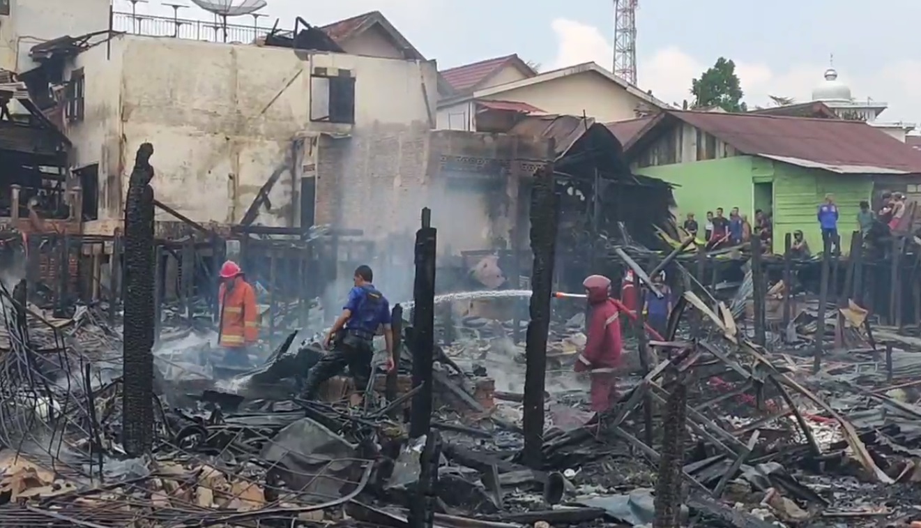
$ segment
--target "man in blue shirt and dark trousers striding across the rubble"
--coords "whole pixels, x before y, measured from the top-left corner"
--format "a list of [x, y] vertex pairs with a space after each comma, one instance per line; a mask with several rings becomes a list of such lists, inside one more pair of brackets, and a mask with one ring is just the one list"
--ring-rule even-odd
[[364, 390], [371, 376], [374, 357], [374, 336], [381, 330], [387, 344], [387, 370], [393, 370], [393, 334], [391, 334], [391, 305], [373, 284], [374, 272], [367, 265], [355, 270], [355, 287], [348, 292], [343, 312], [332, 323], [323, 346], [332, 351], [307, 373], [302, 395], [316, 398], [323, 381], [340, 374], [345, 367], [355, 379], [356, 388]]

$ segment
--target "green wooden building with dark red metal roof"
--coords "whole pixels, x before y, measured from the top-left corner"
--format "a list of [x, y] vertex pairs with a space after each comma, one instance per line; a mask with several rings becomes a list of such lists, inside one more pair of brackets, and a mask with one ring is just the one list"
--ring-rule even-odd
[[921, 185], [921, 152], [863, 122], [666, 111], [608, 127], [631, 168], [676, 185], [676, 214], [693, 212], [702, 227], [717, 207], [727, 216], [739, 207], [752, 223], [763, 209], [774, 215], [775, 241], [802, 229], [817, 248], [816, 207], [826, 194], [841, 211], [842, 235], [857, 229], [861, 200], [878, 202], [887, 190], [921, 198], [911, 193]]

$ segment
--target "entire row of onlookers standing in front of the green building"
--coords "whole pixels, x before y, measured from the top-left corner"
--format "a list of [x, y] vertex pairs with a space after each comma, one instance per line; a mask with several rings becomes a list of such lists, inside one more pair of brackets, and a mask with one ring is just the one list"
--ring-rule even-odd
[[[896, 229], [906, 210], [905, 195], [902, 193], [882, 194], [879, 212], [874, 212], [868, 201], [860, 202], [860, 211], [857, 213], [857, 226], [865, 241], [879, 241], [888, 237]], [[841, 252], [841, 237], [838, 234], [838, 206], [834, 203], [834, 195], [826, 194], [825, 200], [816, 211], [816, 219], [822, 229], [822, 247], [827, 243], [830, 251]], [[754, 213], [754, 225], [749, 222], [746, 215], [740, 214], [739, 207], [733, 207], [729, 217], [723, 216], [723, 208], [717, 207], [716, 213], [706, 212], [703, 232], [700, 229], [694, 213], [688, 213], [684, 220], [683, 228], [695, 239], [702, 240], [707, 250], [721, 247], [731, 247], [752, 241], [758, 237], [762, 241], [764, 252], [772, 251], [774, 229], [772, 216], [769, 212], [758, 209]], [[790, 251], [793, 258], [809, 258], [811, 255], [809, 242], [806, 241], [800, 229], [793, 231]]]

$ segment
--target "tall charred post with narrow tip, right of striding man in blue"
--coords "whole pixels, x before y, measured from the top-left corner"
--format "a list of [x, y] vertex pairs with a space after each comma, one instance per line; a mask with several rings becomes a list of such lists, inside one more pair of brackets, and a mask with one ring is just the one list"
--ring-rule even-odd
[[422, 228], [415, 232], [415, 282], [413, 286], [413, 397], [410, 438], [428, 434], [432, 423], [432, 362], [435, 357], [435, 251], [437, 230], [432, 211], [422, 210]]

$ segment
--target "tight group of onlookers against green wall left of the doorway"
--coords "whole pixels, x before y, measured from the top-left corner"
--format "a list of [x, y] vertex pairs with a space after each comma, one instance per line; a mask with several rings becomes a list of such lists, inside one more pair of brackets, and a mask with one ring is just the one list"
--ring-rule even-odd
[[733, 207], [729, 211], [729, 217], [724, 216], [722, 207], [717, 207], [716, 213], [706, 212], [703, 232], [694, 213], [688, 213], [683, 227], [695, 239], [700, 239], [703, 235], [707, 250], [743, 244], [752, 241], [752, 236], [761, 239], [763, 247], [769, 249], [773, 240], [771, 214], [761, 209], [754, 212], [754, 226], [747, 215], [739, 212], [739, 207]]

